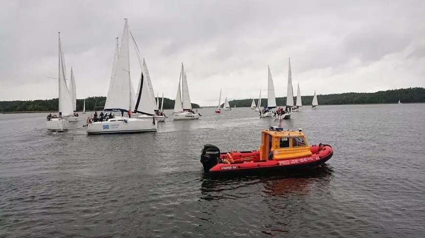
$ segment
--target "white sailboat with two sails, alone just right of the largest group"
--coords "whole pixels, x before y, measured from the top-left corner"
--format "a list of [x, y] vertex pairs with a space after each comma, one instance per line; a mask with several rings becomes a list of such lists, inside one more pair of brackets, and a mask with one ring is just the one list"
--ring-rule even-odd
[[[180, 90], [180, 81], [182, 83], [182, 90]], [[200, 114], [192, 111], [191, 97], [189, 96], [189, 86], [187, 75], [182, 63], [182, 70], [180, 71], [179, 86], [177, 87], [177, 95], [174, 102], [174, 111], [172, 115], [173, 120], [191, 120], [199, 119]]]

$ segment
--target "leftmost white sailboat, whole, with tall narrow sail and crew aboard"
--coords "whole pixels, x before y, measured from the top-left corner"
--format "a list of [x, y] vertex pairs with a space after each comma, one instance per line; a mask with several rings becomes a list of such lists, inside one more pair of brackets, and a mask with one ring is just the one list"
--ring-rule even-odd
[[51, 119], [47, 119], [46, 127], [49, 131], [66, 131], [69, 122], [65, 117], [73, 116], [72, 98], [69, 94], [65, 81], [64, 52], [62, 51], [61, 33], [59, 32], [59, 117], [53, 115]]

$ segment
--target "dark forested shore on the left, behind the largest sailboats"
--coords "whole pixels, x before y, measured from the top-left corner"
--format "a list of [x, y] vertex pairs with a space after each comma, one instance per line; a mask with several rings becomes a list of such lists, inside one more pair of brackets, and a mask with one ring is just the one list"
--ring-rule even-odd
[[[159, 106], [161, 107], [159, 98]], [[85, 99], [85, 110], [100, 111], [105, 106], [106, 97], [89, 97]], [[77, 111], [83, 111], [84, 99], [77, 99]], [[28, 100], [28, 101], [0, 101], [0, 112], [31, 112], [31, 111], [57, 111], [59, 108], [58, 99], [48, 100]], [[174, 108], [174, 100], [164, 98], [164, 109]], [[198, 104], [192, 103], [192, 108], [199, 108]]]

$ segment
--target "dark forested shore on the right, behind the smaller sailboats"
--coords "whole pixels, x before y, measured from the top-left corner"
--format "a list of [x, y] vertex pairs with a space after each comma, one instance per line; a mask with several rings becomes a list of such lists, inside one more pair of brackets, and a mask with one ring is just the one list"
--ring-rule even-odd
[[[294, 97], [294, 103], [297, 97]], [[368, 104], [368, 103], [397, 103], [399, 99], [402, 103], [425, 102], [425, 88], [402, 88], [376, 93], [340, 93], [317, 95], [319, 105], [339, 105], [339, 104]], [[254, 99], [258, 103], [258, 99]], [[253, 99], [239, 99], [229, 101], [231, 107], [250, 107]], [[302, 105], [311, 105], [313, 96], [301, 96]], [[261, 99], [261, 106], [267, 104], [267, 97]], [[286, 97], [276, 98], [277, 106], [286, 105]], [[224, 105], [224, 103], [223, 103]]]

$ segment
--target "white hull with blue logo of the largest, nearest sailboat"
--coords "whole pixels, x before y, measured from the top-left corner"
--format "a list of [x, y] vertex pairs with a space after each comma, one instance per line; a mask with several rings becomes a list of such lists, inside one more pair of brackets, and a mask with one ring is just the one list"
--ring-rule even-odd
[[108, 121], [87, 124], [87, 134], [141, 133], [156, 130], [157, 123], [154, 123], [153, 117], [143, 119], [115, 117]]

